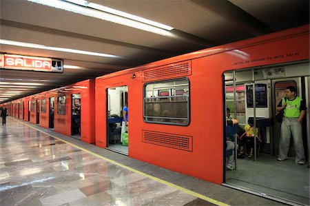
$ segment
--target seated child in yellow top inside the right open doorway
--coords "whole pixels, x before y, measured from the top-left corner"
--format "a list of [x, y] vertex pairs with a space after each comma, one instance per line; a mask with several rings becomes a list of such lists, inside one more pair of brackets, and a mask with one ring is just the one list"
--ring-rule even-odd
[[[240, 155], [244, 154], [243, 151], [244, 145], [247, 145], [247, 151], [249, 151], [249, 148], [251, 148], [251, 152], [247, 156], [251, 158], [253, 156], [253, 150], [254, 150], [254, 118], [249, 117], [247, 120], [247, 125], [245, 125], [245, 136], [241, 138], [240, 141]], [[260, 138], [260, 133], [258, 128], [256, 128], [256, 138], [258, 141], [262, 142], [262, 139]]]

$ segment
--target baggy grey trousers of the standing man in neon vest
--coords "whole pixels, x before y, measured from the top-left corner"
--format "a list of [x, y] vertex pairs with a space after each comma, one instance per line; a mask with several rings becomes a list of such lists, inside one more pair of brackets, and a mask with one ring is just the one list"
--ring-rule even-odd
[[304, 144], [302, 142], [302, 125], [297, 121], [298, 118], [283, 117], [281, 125], [281, 138], [279, 145], [279, 158], [287, 158], [289, 144], [291, 143], [291, 134], [296, 151], [295, 162], [304, 160]]

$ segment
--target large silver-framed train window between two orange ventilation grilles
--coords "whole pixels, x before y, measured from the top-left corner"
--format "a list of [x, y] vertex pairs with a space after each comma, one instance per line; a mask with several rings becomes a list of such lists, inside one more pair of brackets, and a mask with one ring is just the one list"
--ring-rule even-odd
[[189, 80], [145, 84], [143, 118], [147, 123], [189, 125]]

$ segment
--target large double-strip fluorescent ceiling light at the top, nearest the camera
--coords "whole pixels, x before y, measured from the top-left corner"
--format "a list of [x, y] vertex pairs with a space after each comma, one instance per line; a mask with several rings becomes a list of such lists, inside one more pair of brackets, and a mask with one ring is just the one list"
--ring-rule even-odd
[[[125, 12], [121, 12], [121, 11], [114, 10], [111, 8], [106, 8], [105, 6], [101, 6], [96, 3], [88, 3], [87, 7], [85, 7], [85, 6], [80, 6], [79, 4], [70, 3], [70, 2], [75, 2], [75, 1], [70, 1], [70, 2], [60, 1], [60, 0], [28, 0], [28, 1], [31, 1], [34, 3], [40, 3], [45, 6], [59, 8], [59, 9], [66, 10], [69, 12], [74, 12], [77, 14], [83, 14], [87, 17], [94, 17], [96, 19], [102, 19], [105, 21], [113, 22], [113, 23], [127, 25], [132, 28], [137, 28], [139, 30], [145, 30], [147, 32], [153, 32], [153, 33], [160, 34], [166, 37], [177, 38], [175, 34], [172, 34], [172, 32], [169, 32], [169, 30], [173, 29], [172, 27], [169, 27], [167, 25], [165, 25], [166, 26], [165, 28], [163, 28], [163, 26], [159, 27], [160, 25], [163, 25], [163, 24], [150, 21], [147, 19], [144, 19], [144, 20], [147, 20], [147, 23], [144, 23], [143, 18], [141, 17], [136, 17], [132, 14], [127, 14]], [[92, 8], [88, 8], [90, 6], [92, 6]], [[109, 10], [110, 12], [103, 12], [101, 10]], [[118, 14], [112, 14], [112, 12], [118, 13]], [[132, 18], [128, 19], [129, 17], [132, 17]]]

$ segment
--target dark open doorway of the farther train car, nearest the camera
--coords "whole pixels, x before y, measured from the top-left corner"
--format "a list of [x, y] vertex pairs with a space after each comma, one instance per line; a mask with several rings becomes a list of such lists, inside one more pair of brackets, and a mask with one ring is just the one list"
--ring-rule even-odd
[[81, 140], [81, 94], [72, 94], [72, 136]]

